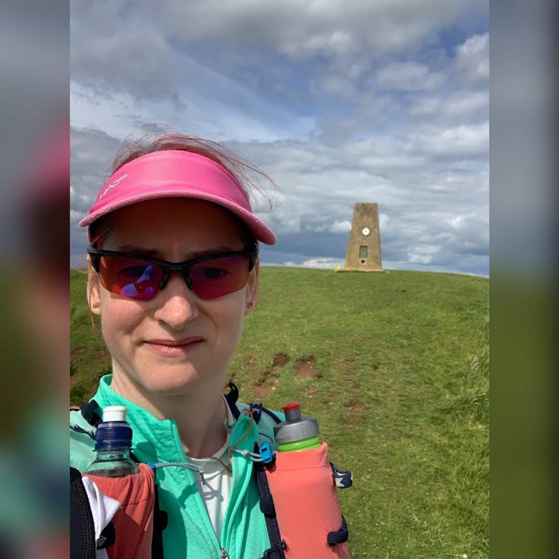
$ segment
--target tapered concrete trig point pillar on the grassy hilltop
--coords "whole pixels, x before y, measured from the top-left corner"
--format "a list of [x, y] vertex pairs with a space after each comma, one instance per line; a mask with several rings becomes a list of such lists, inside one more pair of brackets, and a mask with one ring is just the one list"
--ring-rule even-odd
[[358, 202], [355, 205], [344, 270], [382, 271], [379, 205], [376, 202]]

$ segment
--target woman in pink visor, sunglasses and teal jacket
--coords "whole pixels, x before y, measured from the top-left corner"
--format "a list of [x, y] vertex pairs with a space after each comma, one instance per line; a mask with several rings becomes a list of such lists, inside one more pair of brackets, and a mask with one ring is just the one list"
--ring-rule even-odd
[[[112, 358], [97, 413], [125, 405], [135, 456], [161, 465], [166, 559], [262, 558], [270, 537], [249, 453], [273, 440], [275, 419], [261, 414], [256, 426], [222, 395], [258, 301], [258, 243], [275, 242], [249, 203], [247, 177], [260, 172], [184, 136], [125, 146], [112, 171], [80, 222], [89, 227], [89, 308]], [[84, 472], [93, 442], [72, 413], [71, 465]]]

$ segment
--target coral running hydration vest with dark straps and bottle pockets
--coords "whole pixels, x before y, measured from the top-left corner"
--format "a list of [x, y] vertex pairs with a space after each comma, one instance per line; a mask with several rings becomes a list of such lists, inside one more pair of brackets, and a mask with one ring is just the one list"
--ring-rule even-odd
[[[238, 389], [233, 383], [229, 387], [226, 400], [236, 420], [240, 416]], [[101, 421], [96, 409], [95, 400], [81, 408], [83, 418], [94, 428]], [[281, 421], [259, 403], [249, 405], [249, 409], [256, 424], [262, 414], [276, 423]], [[71, 428], [84, 432], [75, 425]], [[326, 443], [316, 449], [291, 452], [274, 452], [270, 444], [256, 444], [250, 455], [271, 544], [262, 559], [349, 559], [347, 524], [336, 488], [351, 486], [351, 472], [340, 472], [328, 461]], [[155, 468], [140, 464], [138, 474], [122, 478], [87, 475], [103, 493], [121, 503], [112, 518], [114, 542], [108, 546], [107, 542], [97, 542], [99, 547], [106, 547], [109, 559], [163, 559], [167, 515], [159, 509]], [[83, 534], [75, 536], [84, 539]], [[222, 558], [228, 558], [225, 550]]]

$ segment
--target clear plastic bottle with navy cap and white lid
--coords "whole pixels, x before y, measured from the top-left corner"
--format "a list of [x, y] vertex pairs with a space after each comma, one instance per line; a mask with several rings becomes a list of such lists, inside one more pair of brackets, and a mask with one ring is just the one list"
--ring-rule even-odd
[[131, 447], [132, 429], [126, 421], [126, 407], [107, 406], [95, 433], [97, 457], [85, 473], [103, 477], [137, 474], [140, 470], [130, 457]]

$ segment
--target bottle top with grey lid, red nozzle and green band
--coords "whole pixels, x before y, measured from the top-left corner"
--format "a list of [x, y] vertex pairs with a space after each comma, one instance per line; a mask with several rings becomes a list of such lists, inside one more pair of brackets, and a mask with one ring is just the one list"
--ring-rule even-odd
[[301, 416], [299, 402], [290, 402], [282, 410], [285, 421], [274, 427], [277, 449], [285, 452], [320, 448], [317, 419]]

